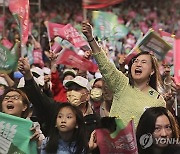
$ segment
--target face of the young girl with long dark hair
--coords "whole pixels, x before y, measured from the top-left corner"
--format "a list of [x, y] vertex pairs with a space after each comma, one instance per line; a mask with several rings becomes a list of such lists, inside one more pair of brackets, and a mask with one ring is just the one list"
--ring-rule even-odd
[[56, 126], [60, 132], [69, 132], [75, 129], [76, 115], [69, 107], [60, 109], [56, 118]]

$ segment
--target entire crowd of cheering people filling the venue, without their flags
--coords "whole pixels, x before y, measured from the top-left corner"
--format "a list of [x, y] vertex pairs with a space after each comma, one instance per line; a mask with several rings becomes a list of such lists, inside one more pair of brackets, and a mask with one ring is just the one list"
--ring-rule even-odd
[[[43, 63], [31, 63], [27, 57], [20, 57], [17, 70], [10, 74], [0, 72], [0, 111], [38, 122], [39, 127], [30, 130], [31, 141], [37, 141], [37, 150], [42, 154], [98, 154], [95, 130], [105, 128], [112, 133], [117, 129], [115, 118], [121, 118], [126, 126], [132, 117], [139, 154], [178, 154], [179, 142], [158, 142], [180, 138], [177, 104], [180, 83], [176, 83], [172, 75], [173, 61], [159, 63], [152, 51], [142, 51], [128, 63], [123, 56], [149, 28], [162, 28], [180, 37], [180, 3], [178, 0], [126, 0], [102, 9], [118, 15], [119, 23], [130, 29], [127, 36], [119, 40], [123, 43], [120, 52], [98, 41], [90, 20], [91, 10], [87, 12], [89, 21], [84, 21], [80, 4], [79, 0], [44, 1], [42, 12], [31, 8], [33, 28], [27, 49], [31, 45], [41, 49]], [[80, 25], [88, 48], [75, 52], [95, 63], [96, 72], [57, 64], [61, 51], [50, 50], [49, 44], [53, 42], [48, 42], [44, 24], [47, 20], [72, 23], [75, 27]], [[40, 31], [38, 23], [41, 23]], [[5, 29], [2, 40], [7, 38], [14, 44], [19, 34], [8, 10]], [[35, 41], [38, 37], [40, 42]], [[151, 135], [151, 146], [141, 143], [145, 134]]]

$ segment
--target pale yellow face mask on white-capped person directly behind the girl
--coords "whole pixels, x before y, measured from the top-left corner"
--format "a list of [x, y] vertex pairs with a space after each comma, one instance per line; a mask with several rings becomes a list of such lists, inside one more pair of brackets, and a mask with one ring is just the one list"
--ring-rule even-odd
[[75, 106], [79, 106], [82, 103], [84, 103], [84, 102], [81, 102], [82, 96], [83, 96], [83, 94], [81, 94], [80, 92], [74, 91], [74, 90], [67, 92], [68, 101]]

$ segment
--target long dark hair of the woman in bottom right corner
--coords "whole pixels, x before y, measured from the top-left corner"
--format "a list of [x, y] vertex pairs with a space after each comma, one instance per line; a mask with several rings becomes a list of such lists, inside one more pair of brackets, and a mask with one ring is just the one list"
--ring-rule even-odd
[[137, 138], [137, 145], [138, 145], [138, 151], [139, 154], [144, 154], [144, 153], [153, 153], [152, 152], [152, 147], [150, 146], [149, 148], [143, 149], [139, 143], [140, 137], [144, 134], [153, 134], [155, 130], [155, 123], [156, 119], [159, 116], [165, 115], [171, 124], [172, 128], [172, 137], [173, 138], [179, 138], [179, 126], [171, 114], [170, 111], [168, 111], [164, 107], [151, 107], [146, 109], [146, 111], [142, 114], [137, 129], [136, 129], [136, 138]]

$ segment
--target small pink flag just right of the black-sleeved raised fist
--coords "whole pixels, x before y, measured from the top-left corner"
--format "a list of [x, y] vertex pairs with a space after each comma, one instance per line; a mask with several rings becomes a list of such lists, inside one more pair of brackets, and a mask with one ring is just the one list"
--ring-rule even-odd
[[38, 64], [40, 67], [44, 66], [41, 49], [36, 49], [33, 51], [33, 60], [33, 64]]

